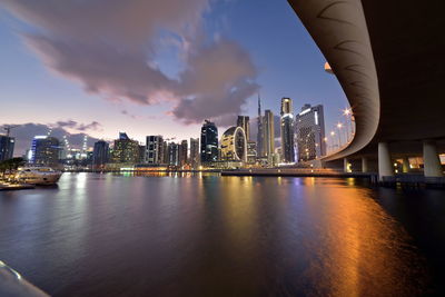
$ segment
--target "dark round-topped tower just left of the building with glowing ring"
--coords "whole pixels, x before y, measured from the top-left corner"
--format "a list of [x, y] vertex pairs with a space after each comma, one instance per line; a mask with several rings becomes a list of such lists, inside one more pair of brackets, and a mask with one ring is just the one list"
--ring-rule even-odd
[[218, 160], [218, 129], [206, 120], [201, 128], [201, 164], [208, 165]]

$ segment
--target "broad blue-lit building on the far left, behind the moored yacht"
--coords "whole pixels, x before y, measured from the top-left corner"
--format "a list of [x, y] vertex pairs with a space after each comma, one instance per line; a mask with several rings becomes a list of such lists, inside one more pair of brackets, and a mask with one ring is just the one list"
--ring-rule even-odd
[[31, 145], [31, 164], [55, 167], [59, 162], [59, 139], [49, 136], [36, 136]]

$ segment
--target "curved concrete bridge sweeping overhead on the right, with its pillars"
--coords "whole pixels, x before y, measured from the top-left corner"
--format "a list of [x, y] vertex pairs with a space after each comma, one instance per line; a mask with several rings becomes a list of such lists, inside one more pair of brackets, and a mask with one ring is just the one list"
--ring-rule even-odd
[[[356, 133], [323, 160], [394, 178], [394, 159], [423, 157], [425, 180], [444, 179], [443, 0], [288, 0], [337, 77]], [[358, 164], [358, 166], [357, 166]]]

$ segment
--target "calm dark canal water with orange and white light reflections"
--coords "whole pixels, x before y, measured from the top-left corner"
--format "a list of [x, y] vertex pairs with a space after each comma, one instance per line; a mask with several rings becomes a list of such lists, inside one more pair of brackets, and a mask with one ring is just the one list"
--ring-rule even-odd
[[0, 192], [0, 260], [56, 296], [441, 295], [445, 191], [65, 174]]

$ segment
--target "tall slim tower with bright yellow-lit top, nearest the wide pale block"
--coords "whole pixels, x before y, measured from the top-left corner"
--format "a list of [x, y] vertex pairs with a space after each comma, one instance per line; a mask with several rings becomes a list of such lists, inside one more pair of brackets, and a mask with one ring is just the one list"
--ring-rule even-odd
[[283, 161], [295, 162], [294, 115], [290, 98], [281, 98], [280, 116]]

